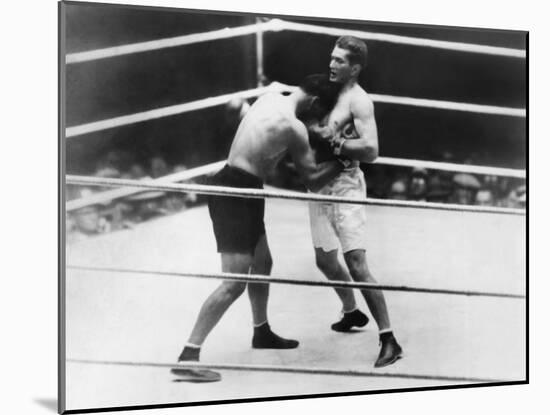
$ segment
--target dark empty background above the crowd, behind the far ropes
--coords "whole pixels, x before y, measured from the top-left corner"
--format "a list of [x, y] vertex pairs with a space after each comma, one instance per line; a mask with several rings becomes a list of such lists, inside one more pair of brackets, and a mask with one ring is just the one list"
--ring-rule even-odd
[[[252, 15], [67, 5], [66, 52], [206, 32], [256, 22]], [[526, 48], [526, 33], [386, 23], [293, 21], [422, 38]], [[335, 37], [264, 35], [269, 80], [295, 85], [324, 72]], [[360, 83], [370, 93], [525, 108], [525, 59], [368, 41]], [[254, 35], [66, 66], [67, 126], [237, 92], [257, 86]], [[380, 155], [525, 168], [524, 118], [375, 103]], [[232, 139], [213, 107], [67, 139], [67, 173], [89, 174], [112, 149], [140, 160], [161, 155], [189, 167], [225, 158]]]

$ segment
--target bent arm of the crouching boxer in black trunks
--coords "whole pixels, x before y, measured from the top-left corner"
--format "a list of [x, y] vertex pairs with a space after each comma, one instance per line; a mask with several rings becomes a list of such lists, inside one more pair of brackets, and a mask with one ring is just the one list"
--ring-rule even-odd
[[342, 171], [342, 164], [337, 160], [317, 164], [308, 143], [305, 126], [293, 127], [289, 134], [289, 153], [304, 185], [315, 192]]

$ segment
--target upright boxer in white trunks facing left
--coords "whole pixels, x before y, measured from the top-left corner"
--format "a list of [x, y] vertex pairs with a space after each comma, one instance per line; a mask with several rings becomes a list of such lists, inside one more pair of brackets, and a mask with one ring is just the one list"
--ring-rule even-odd
[[[378, 157], [378, 134], [374, 105], [358, 84], [366, 65], [367, 46], [360, 39], [343, 36], [334, 46], [330, 59], [330, 81], [342, 85], [336, 106], [319, 126], [310, 128], [312, 146], [320, 153], [328, 151], [348, 165], [335, 179], [318, 191], [342, 197], [366, 197], [366, 185], [359, 164]], [[317, 144], [317, 145], [316, 145]], [[322, 150], [324, 145], [324, 150]], [[338, 260], [341, 248], [347, 269], [354, 281], [376, 283], [367, 266], [365, 237], [368, 232], [366, 207], [347, 203], [310, 203], [310, 222], [315, 258], [319, 269], [330, 280], [349, 281]], [[363, 327], [368, 318], [358, 308], [352, 290], [336, 290], [343, 304], [343, 316], [332, 329], [348, 332]], [[363, 296], [376, 320], [380, 335], [380, 354], [375, 367], [394, 363], [401, 357], [390, 325], [384, 294], [381, 290], [363, 290]]]

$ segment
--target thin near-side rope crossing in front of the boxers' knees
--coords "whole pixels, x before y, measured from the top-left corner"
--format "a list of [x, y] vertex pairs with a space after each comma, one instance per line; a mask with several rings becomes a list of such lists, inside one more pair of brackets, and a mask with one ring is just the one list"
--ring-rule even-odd
[[367, 282], [348, 282], [348, 281], [315, 281], [293, 278], [282, 278], [255, 274], [238, 274], [238, 273], [203, 273], [203, 272], [175, 272], [175, 271], [156, 271], [156, 270], [139, 270], [129, 268], [114, 268], [114, 267], [96, 267], [82, 265], [67, 265], [67, 269], [94, 271], [94, 272], [111, 272], [119, 274], [137, 274], [137, 275], [159, 275], [168, 277], [183, 277], [183, 278], [204, 278], [217, 279], [226, 281], [240, 281], [250, 283], [275, 283], [287, 285], [302, 285], [310, 287], [332, 287], [332, 288], [354, 288], [361, 290], [380, 290], [380, 291], [405, 291], [428, 294], [448, 294], [448, 295], [463, 295], [468, 297], [497, 297], [497, 298], [513, 298], [524, 299], [525, 295], [498, 293], [488, 291], [472, 291], [472, 290], [452, 290], [443, 288], [427, 288], [427, 287], [411, 287], [406, 285], [392, 284], [373, 284]]

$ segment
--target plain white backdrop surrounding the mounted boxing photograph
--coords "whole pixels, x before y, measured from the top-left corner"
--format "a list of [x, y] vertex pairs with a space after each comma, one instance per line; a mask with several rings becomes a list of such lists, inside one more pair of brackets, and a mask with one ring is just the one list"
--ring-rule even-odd
[[[222, 10], [222, 0], [111, 0], [112, 3]], [[548, 365], [547, 295], [549, 276], [542, 262], [548, 192], [545, 179], [550, 134], [547, 13], [542, 2], [462, 0], [321, 2], [233, 0], [234, 11], [329, 16], [364, 20], [431, 23], [473, 27], [523, 29], [531, 32], [530, 50], [530, 223], [531, 226], [531, 385], [416, 392], [358, 397], [306, 399], [146, 410], [135, 414], [275, 414], [390, 413], [498, 414], [541, 413]], [[358, 4], [361, 7], [358, 8]], [[539, 6], [538, 4], [541, 4]], [[313, 13], [313, 11], [315, 11]], [[5, 89], [2, 165], [2, 410], [6, 413], [52, 414], [36, 403], [55, 399], [57, 389], [57, 4], [55, 0], [22, 0], [3, 6], [2, 77]], [[7, 93], [6, 93], [7, 92]], [[14, 111], [15, 110], [15, 111]], [[7, 128], [6, 128], [7, 127]], [[536, 142], [535, 142], [536, 137]], [[32, 148], [32, 151], [29, 151]], [[546, 163], [545, 163], [546, 162]], [[40, 172], [37, 175], [37, 172]], [[31, 186], [29, 186], [31, 185]], [[541, 189], [536, 192], [535, 189]], [[546, 202], [546, 203], [545, 203]], [[533, 208], [539, 206], [539, 209]], [[546, 239], [546, 238], [544, 238]], [[535, 240], [537, 243], [535, 243]], [[13, 248], [15, 249], [15, 252]], [[538, 263], [534, 262], [534, 258]], [[127, 412], [118, 412], [127, 413]]]

